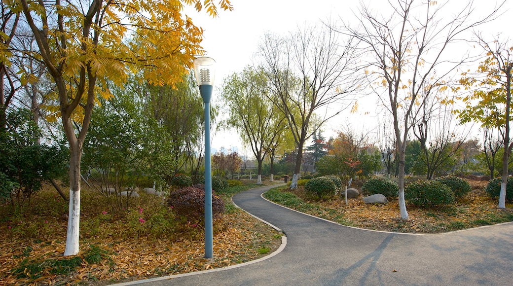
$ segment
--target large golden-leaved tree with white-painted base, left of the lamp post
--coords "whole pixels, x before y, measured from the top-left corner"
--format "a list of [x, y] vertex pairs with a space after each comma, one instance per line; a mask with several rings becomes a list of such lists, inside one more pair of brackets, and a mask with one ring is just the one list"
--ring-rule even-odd
[[[202, 54], [203, 30], [182, 15], [184, 5], [206, 8], [215, 16], [213, 0], [140, 2], [136, 0], [39, 1], [6, 0], [21, 14], [35, 37], [35, 59], [53, 79], [60, 117], [70, 148], [70, 203], [64, 255], [78, 253], [80, 164], [96, 96], [112, 97], [107, 80], [123, 86], [130, 72], [141, 72], [154, 85], [174, 86]], [[203, 5], [202, 5], [203, 3]], [[220, 0], [222, 9], [231, 9]], [[8, 51], [2, 49], [2, 59]], [[4, 60], [3, 60], [4, 61]]]

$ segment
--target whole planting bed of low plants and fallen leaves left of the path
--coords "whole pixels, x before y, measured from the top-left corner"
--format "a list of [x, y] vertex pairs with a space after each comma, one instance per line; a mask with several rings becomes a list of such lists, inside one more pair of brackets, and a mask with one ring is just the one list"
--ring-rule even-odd
[[179, 216], [166, 200], [140, 192], [119, 210], [97, 191], [82, 189], [81, 252], [63, 257], [67, 207], [45, 186], [13, 213], [0, 205], [0, 285], [115, 282], [179, 274], [253, 260], [277, 249], [282, 233], [235, 208], [231, 195], [257, 187], [244, 182], [215, 192], [225, 202], [214, 219], [214, 259], [204, 259], [202, 220]]

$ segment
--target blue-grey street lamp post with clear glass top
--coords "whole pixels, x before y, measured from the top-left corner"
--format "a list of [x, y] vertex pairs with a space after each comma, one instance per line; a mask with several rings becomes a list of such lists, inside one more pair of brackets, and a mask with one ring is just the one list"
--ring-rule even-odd
[[215, 60], [198, 57], [193, 61], [194, 75], [205, 104], [205, 258], [213, 257], [212, 170], [210, 162], [210, 97], [214, 86]]

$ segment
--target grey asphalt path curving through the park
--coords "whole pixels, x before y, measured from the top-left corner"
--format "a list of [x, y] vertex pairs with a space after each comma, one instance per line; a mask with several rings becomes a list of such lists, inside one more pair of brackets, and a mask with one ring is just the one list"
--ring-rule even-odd
[[301, 214], [261, 198], [272, 187], [239, 193], [233, 201], [282, 229], [287, 235], [283, 251], [243, 267], [134, 282], [142, 285], [513, 285], [513, 223], [428, 235], [361, 230]]

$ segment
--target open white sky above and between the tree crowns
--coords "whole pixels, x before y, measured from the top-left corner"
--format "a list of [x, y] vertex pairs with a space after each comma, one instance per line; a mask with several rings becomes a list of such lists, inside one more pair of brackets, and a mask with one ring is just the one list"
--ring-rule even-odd
[[[390, 1], [395, 2], [394, 0]], [[452, 3], [459, 5], [460, 1], [452, 0]], [[207, 51], [207, 55], [216, 60], [216, 89], [221, 87], [225, 76], [232, 72], [239, 72], [246, 65], [252, 64], [253, 54], [257, 51], [260, 39], [266, 31], [288, 33], [294, 31], [298, 25], [316, 24], [320, 19], [328, 18], [336, 20], [342, 17], [344, 21], [351, 22], [351, 19], [354, 19], [353, 11], [357, 12], [360, 7], [360, 1], [347, 0], [230, 0], [230, 2], [234, 7], [233, 11], [220, 11], [217, 18], [208, 17], [205, 11], [196, 13], [192, 8], [187, 8], [185, 12], [192, 18], [196, 26], [205, 30], [202, 46]], [[385, 0], [366, 0], [364, 2], [377, 10], [381, 9], [379, 5], [386, 4], [388, 7]], [[444, 0], [439, 0], [440, 2], [443, 3]], [[489, 11], [490, 3], [495, 4], [495, 0], [476, 0], [477, 11]], [[501, 38], [509, 37], [513, 40], [511, 24], [510, 21], [507, 21], [508, 14], [513, 13], [513, 1], [506, 1], [505, 6], [507, 13], [503, 14], [494, 24], [483, 26], [479, 30], [490, 36], [502, 32]], [[219, 103], [216, 101], [216, 93], [219, 91], [214, 89], [212, 104]], [[377, 120], [374, 117], [376, 115], [373, 114], [375, 106], [372, 104], [366, 108], [361, 101], [359, 104], [358, 114], [349, 115], [347, 112], [328, 121], [323, 128], [323, 135], [329, 137], [335, 134], [336, 131], [341, 130], [346, 121], [350, 122], [351, 126], [357, 130], [369, 128], [369, 122]], [[364, 115], [366, 112], [371, 114]], [[221, 147], [226, 149], [235, 147], [240, 154], [243, 153], [241, 139], [235, 131], [216, 132], [211, 144], [212, 152]]]

